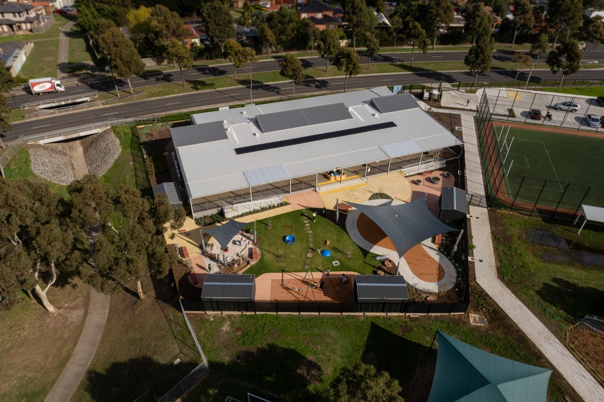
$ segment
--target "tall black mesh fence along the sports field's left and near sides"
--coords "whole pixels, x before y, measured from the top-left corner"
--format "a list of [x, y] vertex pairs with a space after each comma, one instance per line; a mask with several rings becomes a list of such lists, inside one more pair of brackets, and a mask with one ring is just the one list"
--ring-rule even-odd
[[565, 222], [573, 220], [590, 187], [506, 172], [501, 144], [493, 128], [491, 106], [483, 94], [476, 117], [489, 207], [509, 207], [523, 214]]

